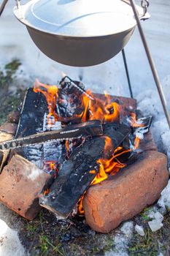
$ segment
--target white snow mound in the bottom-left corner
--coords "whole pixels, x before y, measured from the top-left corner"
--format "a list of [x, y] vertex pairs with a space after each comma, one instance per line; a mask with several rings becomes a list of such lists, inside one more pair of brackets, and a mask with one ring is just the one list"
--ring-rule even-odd
[[0, 219], [0, 255], [24, 256], [23, 245], [20, 243], [18, 233], [8, 227], [7, 223]]

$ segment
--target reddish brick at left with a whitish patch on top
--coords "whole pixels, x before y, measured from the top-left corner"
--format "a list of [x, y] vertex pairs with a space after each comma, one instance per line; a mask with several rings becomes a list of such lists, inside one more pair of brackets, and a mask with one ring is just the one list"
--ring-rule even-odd
[[28, 160], [15, 155], [0, 175], [0, 201], [26, 219], [40, 210], [39, 192], [50, 175]]

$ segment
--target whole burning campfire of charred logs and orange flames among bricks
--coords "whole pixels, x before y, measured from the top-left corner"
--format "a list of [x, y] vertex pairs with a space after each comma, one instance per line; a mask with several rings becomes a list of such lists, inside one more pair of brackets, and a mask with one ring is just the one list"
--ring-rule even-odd
[[[67, 76], [58, 86], [36, 80], [26, 93], [15, 138], [0, 143], [6, 164], [17, 155], [37, 168], [28, 176], [45, 176], [40, 206], [64, 218], [84, 215], [89, 187], [112, 180], [142, 152], [151, 116], [142, 116], [135, 105], [134, 99], [93, 94]], [[28, 219], [36, 215], [13, 209]]]

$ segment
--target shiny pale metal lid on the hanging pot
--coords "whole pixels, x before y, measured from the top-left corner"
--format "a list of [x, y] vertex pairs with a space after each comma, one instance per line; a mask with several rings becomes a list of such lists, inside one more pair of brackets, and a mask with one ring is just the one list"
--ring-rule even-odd
[[14, 12], [26, 26], [66, 37], [101, 37], [136, 26], [128, 0], [32, 0]]

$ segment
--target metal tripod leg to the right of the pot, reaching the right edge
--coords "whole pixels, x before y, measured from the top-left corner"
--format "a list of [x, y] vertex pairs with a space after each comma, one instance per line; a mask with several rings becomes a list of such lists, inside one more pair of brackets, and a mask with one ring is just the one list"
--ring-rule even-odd
[[161, 103], [162, 103], [162, 106], [163, 106], [163, 110], [164, 110], [164, 113], [166, 115], [166, 120], [169, 124], [169, 129], [170, 129], [170, 116], [169, 116], [168, 109], [166, 107], [167, 106], [166, 98], [165, 98], [165, 95], [163, 93], [163, 88], [161, 86], [161, 83], [160, 83], [160, 80], [159, 80], [159, 77], [158, 77], [158, 72], [155, 68], [154, 61], [152, 60], [152, 56], [150, 54], [150, 50], [148, 48], [147, 41], [146, 41], [145, 36], [144, 36], [144, 32], [143, 32], [143, 29], [142, 29], [142, 26], [141, 26], [141, 23], [140, 23], [140, 20], [139, 20], [139, 17], [138, 17], [138, 13], [137, 13], [137, 10], [136, 10], [135, 4], [134, 4], [134, 0], [130, 0], [130, 2], [131, 2], [131, 7], [134, 11], [134, 16], [136, 18], [136, 23], [137, 23], [137, 26], [138, 26], [138, 29], [139, 29], [140, 36], [142, 38], [142, 42], [143, 42], [143, 45], [144, 45], [144, 50], [146, 51], [147, 59], [150, 63], [150, 68], [152, 70], [152, 75], [153, 75], [153, 78], [155, 80], [155, 84], [156, 84], [157, 89], [158, 89], [158, 94], [160, 96]]

